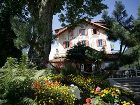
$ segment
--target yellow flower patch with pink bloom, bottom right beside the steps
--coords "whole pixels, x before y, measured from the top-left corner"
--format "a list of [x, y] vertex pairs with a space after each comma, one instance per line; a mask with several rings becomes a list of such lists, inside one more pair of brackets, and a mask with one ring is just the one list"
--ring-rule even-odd
[[[128, 97], [128, 93], [125, 95], [124, 90], [116, 87], [108, 87], [101, 89], [99, 86], [93, 89], [93, 96], [91, 102], [87, 102], [84, 105], [135, 105], [134, 102]], [[131, 95], [131, 93], [130, 93]]]

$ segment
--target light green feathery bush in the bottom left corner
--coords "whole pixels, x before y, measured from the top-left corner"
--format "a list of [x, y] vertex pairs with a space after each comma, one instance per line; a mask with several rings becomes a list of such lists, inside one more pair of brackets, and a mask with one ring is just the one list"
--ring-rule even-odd
[[5, 105], [19, 105], [25, 97], [29, 98], [29, 101], [33, 99], [31, 84], [34, 72], [27, 69], [25, 56], [22, 56], [20, 63], [16, 59], [8, 58], [5, 66], [0, 69], [0, 75], [0, 99], [6, 100]]

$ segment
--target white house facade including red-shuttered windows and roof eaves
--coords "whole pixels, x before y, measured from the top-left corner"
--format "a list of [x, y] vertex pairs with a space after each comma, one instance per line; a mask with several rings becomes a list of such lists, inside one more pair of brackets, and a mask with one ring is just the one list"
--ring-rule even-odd
[[102, 22], [81, 22], [72, 28], [56, 29], [57, 50], [55, 57], [65, 57], [67, 50], [77, 43], [85, 44], [98, 51], [105, 50], [111, 54], [111, 44], [107, 37], [108, 28]]

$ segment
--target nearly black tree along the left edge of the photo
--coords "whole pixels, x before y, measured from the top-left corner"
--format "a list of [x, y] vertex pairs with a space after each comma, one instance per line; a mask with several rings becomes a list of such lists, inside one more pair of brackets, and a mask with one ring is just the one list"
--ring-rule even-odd
[[21, 56], [21, 51], [14, 45], [16, 34], [11, 28], [11, 17], [21, 16], [24, 3], [24, 0], [0, 1], [0, 67], [4, 65], [7, 57], [20, 58]]

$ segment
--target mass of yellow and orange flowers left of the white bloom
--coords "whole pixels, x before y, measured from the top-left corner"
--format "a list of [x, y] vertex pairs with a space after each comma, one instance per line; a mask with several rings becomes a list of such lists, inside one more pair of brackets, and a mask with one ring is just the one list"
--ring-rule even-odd
[[63, 86], [60, 82], [49, 80], [35, 81], [35, 101], [39, 105], [74, 105], [76, 97], [70, 92], [70, 87]]

